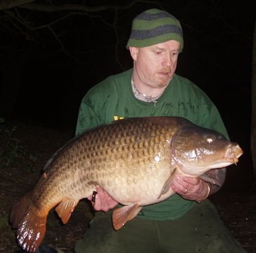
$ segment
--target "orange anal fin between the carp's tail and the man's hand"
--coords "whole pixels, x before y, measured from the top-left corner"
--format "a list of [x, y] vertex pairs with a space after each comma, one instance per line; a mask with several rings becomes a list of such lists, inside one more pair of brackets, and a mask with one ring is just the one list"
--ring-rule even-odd
[[55, 208], [55, 211], [57, 212], [58, 216], [61, 218], [63, 224], [66, 224], [69, 221], [69, 218], [73, 213], [78, 201], [79, 200], [63, 198], [62, 201]]

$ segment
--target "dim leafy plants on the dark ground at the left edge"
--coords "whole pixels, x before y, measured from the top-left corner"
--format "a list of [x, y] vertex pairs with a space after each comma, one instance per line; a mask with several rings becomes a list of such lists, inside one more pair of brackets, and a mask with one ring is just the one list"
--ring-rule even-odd
[[0, 169], [9, 166], [32, 169], [37, 160], [37, 157], [20, 144], [19, 139], [13, 136], [16, 129], [16, 126], [8, 127], [3, 123], [0, 125]]

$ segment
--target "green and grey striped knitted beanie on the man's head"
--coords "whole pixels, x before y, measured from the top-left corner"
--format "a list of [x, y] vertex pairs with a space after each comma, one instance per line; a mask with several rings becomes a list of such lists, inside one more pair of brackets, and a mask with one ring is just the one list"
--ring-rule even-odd
[[134, 18], [126, 48], [143, 48], [168, 40], [180, 42], [182, 51], [184, 43], [179, 20], [166, 11], [150, 9]]

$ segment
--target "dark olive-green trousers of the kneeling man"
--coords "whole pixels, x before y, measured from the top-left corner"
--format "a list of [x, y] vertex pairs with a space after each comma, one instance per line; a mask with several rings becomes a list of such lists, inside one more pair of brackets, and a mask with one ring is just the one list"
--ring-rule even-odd
[[115, 231], [112, 212], [97, 213], [91, 227], [75, 245], [76, 253], [237, 253], [245, 252], [205, 200], [176, 220], [134, 218]]

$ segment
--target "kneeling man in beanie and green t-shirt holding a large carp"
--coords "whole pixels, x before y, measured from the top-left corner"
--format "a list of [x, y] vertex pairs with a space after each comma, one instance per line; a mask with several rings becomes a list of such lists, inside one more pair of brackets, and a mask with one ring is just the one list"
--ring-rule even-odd
[[[228, 138], [216, 106], [194, 83], [175, 74], [183, 35], [174, 16], [158, 9], [139, 14], [127, 49], [134, 61], [132, 70], [89, 90], [80, 105], [76, 134], [122, 118], [178, 116]], [[223, 185], [225, 169], [212, 170], [208, 176]], [[172, 189], [177, 194], [143, 207], [118, 232], [111, 211], [96, 213], [75, 252], [244, 252], [207, 200], [220, 187], [200, 178], [177, 177]], [[117, 204], [100, 187], [90, 199], [97, 211]]]

